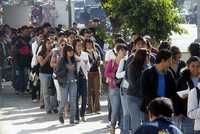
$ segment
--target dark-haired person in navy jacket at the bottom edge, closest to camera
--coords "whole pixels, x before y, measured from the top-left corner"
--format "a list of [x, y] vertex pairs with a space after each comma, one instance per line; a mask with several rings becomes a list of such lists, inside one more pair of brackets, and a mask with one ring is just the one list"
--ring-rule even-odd
[[172, 117], [173, 106], [168, 98], [160, 97], [148, 105], [150, 122], [140, 126], [135, 134], [183, 134], [168, 118]]

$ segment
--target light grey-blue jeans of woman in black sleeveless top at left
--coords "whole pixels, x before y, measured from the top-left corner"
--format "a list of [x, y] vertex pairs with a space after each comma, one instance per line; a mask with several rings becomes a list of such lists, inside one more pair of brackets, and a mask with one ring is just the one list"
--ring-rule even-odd
[[49, 95], [50, 89], [48, 89], [48, 86], [50, 85], [50, 81], [52, 79], [52, 75], [40, 73], [39, 78], [40, 78], [40, 90], [41, 90], [40, 94], [43, 95], [46, 112], [57, 109], [56, 97], [55, 95], [50, 96]]

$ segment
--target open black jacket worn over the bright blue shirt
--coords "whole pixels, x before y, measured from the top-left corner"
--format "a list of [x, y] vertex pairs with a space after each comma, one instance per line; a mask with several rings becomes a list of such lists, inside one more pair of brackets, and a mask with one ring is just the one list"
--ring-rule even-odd
[[[176, 100], [178, 97], [176, 93], [176, 83], [170, 71], [165, 73], [165, 94], [167, 98], [171, 98], [174, 104], [175, 113], [176, 109]], [[148, 103], [157, 96], [158, 89], [158, 73], [155, 66], [147, 69], [142, 74], [141, 78], [141, 88], [144, 95], [144, 100], [142, 104], [142, 110], [146, 111]]]

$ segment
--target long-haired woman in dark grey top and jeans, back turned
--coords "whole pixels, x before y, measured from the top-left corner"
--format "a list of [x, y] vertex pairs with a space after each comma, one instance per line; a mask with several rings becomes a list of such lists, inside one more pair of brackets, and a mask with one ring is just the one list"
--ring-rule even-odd
[[149, 56], [147, 49], [138, 49], [134, 59], [127, 66], [127, 79], [129, 82], [127, 101], [131, 117], [131, 130], [133, 132], [140, 126], [141, 121], [144, 120], [144, 114], [140, 110], [143, 100], [140, 82], [142, 72], [149, 66]]

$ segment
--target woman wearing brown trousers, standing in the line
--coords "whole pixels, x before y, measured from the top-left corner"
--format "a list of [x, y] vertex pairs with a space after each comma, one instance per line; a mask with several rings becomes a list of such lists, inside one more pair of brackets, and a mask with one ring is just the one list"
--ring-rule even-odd
[[85, 50], [89, 55], [90, 70], [88, 72], [88, 112], [100, 111], [100, 55], [93, 41], [86, 39]]

